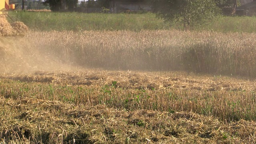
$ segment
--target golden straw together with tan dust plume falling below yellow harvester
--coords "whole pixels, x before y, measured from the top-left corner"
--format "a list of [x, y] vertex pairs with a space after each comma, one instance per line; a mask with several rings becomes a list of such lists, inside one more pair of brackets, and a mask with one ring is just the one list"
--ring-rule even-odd
[[35, 45], [37, 42], [32, 42], [27, 32], [28, 27], [24, 23], [9, 23], [5, 15], [0, 16], [0, 73], [24, 74], [74, 69], [62, 64], [46, 49], [38, 50]]

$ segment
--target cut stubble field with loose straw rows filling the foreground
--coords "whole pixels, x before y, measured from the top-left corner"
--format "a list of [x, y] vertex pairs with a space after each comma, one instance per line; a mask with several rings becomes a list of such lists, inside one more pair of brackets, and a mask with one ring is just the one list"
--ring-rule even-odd
[[253, 143], [255, 84], [172, 72], [2, 74], [0, 136], [13, 143]]

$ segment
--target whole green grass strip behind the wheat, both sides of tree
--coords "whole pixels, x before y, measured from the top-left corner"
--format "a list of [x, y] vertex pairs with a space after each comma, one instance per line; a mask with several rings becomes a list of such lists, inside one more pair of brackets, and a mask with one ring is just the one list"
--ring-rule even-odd
[[[153, 13], [144, 14], [84, 14], [75, 12], [9, 12], [16, 21], [32, 30], [162, 30], [183, 29], [180, 24], [166, 24]], [[9, 20], [11, 22], [11, 20]], [[256, 32], [254, 17], [219, 17], [209, 25], [195, 28], [214, 32]]]

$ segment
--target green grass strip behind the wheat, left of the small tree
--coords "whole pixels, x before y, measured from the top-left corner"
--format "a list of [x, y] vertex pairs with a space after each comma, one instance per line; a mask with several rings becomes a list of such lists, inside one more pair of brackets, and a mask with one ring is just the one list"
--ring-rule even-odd
[[71, 12], [10, 12], [34, 30], [157, 30], [166, 28], [154, 14], [84, 14]]

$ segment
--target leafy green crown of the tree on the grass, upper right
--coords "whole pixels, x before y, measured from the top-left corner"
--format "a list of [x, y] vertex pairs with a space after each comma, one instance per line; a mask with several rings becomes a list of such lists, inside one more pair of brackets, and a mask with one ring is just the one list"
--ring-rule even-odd
[[153, 0], [158, 18], [183, 24], [184, 29], [200, 26], [219, 14], [213, 0]]

